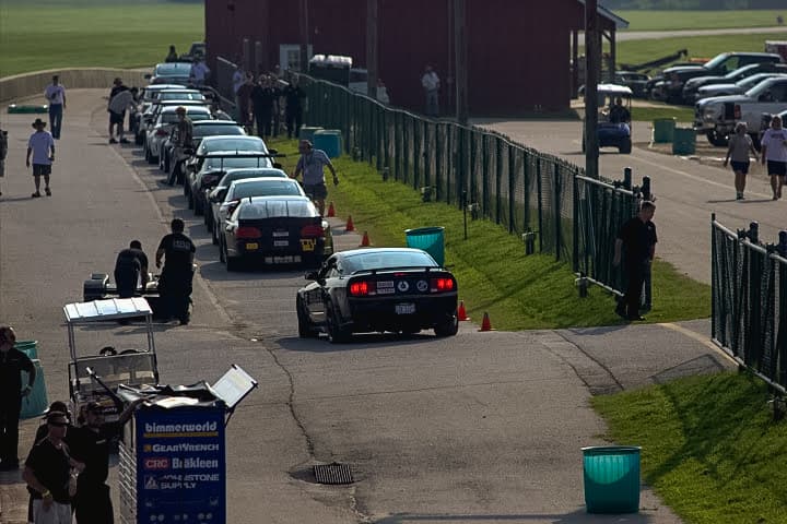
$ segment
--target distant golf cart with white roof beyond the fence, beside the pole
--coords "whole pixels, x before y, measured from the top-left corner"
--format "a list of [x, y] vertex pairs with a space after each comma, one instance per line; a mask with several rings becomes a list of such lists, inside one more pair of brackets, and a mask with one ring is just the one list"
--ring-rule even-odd
[[[632, 147], [632, 93], [630, 87], [615, 84], [598, 85], [598, 134], [599, 147], [618, 147], [622, 154], [630, 154]], [[627, 118], [619, 118], [613, 110], [615, 99], [622, 100]], [[583, 123], [583, 153], [585, 153], [585, 126]]]

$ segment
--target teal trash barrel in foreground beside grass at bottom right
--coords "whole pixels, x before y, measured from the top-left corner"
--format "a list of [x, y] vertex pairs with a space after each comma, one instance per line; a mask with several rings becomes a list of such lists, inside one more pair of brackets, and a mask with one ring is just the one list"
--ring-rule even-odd
[[639, 511], [639, 452], [634, 445], [583, 448], [588, 513]]

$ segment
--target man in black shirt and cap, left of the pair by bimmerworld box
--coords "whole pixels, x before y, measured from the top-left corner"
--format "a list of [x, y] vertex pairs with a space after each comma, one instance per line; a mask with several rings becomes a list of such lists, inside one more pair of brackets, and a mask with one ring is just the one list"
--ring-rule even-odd
[[22, 478], [33, 496], [34, 524], [71, 524], [71, 497], [77, 493], [78, 469], [63, 440], [69, 419], [64, 413], [46, 415], [47, 436], [33, 445]]

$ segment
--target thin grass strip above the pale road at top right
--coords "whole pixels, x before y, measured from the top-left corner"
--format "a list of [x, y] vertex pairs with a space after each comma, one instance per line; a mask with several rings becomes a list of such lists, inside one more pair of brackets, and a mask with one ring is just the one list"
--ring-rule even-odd
[[[627, 31], [718, 29], [728, 27], [774, 27], [778, 11], [614, 11], [630, 25]], [[787, 4], [780, 12], [787, 19]], [[785, 28], [787, 31], [787, 27]]]

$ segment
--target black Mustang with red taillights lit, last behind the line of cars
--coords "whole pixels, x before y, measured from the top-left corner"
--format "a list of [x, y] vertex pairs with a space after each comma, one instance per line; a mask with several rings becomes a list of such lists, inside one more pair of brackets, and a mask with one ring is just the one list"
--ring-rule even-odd
[[301, 337], [325, 332], [339, 343], [352, 333], [458, 331], [456, 278], [420, 249], [342, 251], [306, 279], [296, 297]]

